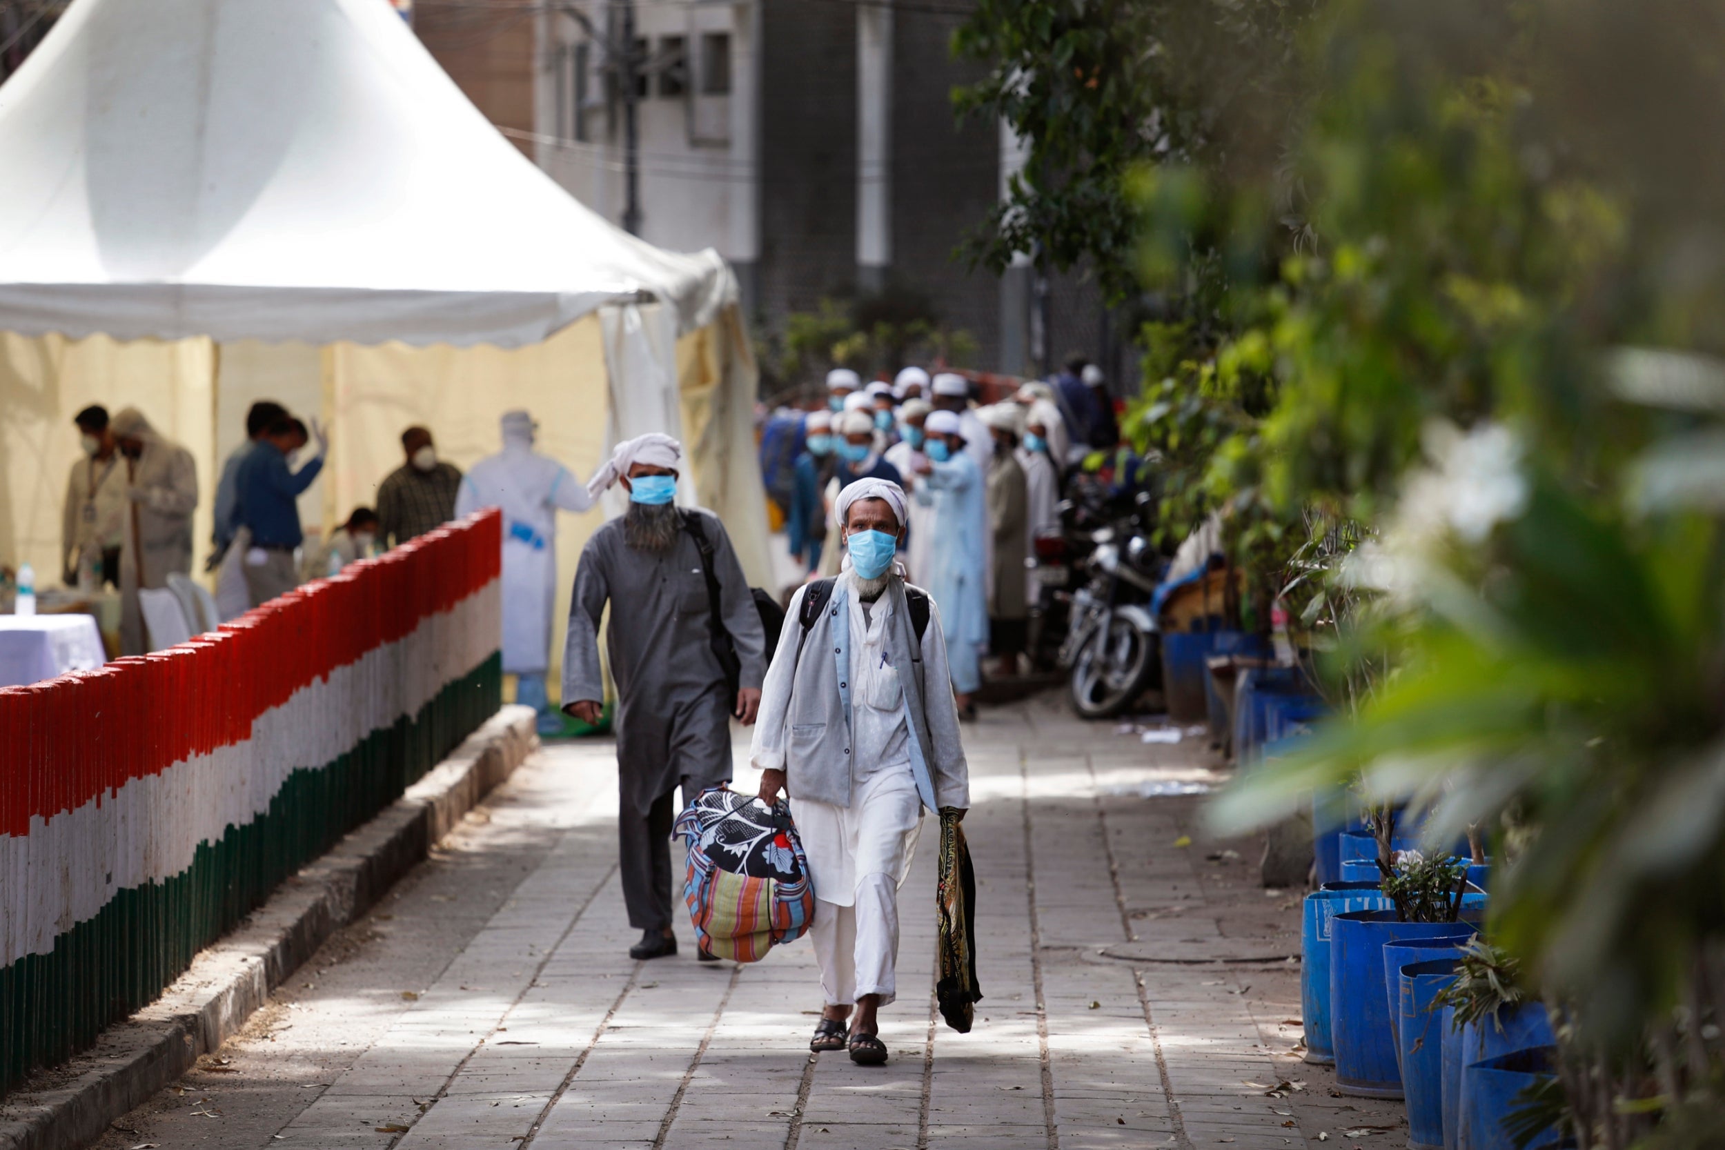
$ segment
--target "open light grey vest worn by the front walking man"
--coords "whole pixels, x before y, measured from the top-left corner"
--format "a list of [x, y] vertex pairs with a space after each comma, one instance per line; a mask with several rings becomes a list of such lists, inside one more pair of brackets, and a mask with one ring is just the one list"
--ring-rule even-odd
[[[928, 717], [923, 710], [923, 645], [911, 626], [911, 609], [904, 583], [894, 579], [892, 622], [887, 633], [887, 657], [899, 672], [904, 710], [909, 719], [911, 774], [923, 805], [935, 807], [930, 774]], [[795, 617], [785, 626], [802, 626]], [[833, 703], [838, 703], [837, 707]], [[842, 717], [842, 722], [833, 722]], [[785, 747], [785, 790], [792, 798], [849, 807], [856, 779], [850, 738], [850, 588], [838, 583], [826, 610], [809, 624], [792, 676], [790, 705], [785, 712], [788, 731]]]

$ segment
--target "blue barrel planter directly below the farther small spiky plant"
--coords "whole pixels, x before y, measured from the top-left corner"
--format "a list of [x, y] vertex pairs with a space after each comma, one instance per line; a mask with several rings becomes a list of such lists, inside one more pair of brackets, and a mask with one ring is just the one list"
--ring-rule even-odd
[[1330, 924], [1330, 1041], [1335, 1084], [1364, 1098], [1401, 1098], [1383, 943], [1452, 934], [1454, 922], [1397, 922], [1394, 910], [1351, 910]]

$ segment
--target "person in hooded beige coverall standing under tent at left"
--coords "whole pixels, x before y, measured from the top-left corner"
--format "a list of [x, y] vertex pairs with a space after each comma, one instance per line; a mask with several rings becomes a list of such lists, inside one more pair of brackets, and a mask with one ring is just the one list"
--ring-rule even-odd
[[138, 607], [140, 590], [167, 586], [172, 572], [191, 572], [191, 512], [198, 469], [191, 452], [164, 438], [136, 407], [109, 422], [126, 459], [129, 509], [119, 548], [119, 645], [124, 655], [150, 650]]

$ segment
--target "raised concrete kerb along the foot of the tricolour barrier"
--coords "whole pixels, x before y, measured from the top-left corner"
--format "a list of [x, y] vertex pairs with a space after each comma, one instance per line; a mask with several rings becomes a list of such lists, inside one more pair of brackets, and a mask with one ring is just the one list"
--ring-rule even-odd
[[0, 1150], [83, 1147], [233, 1036], [336, 929], [364, 916], [538, 747], [533, 710], [504, 707], [378, 817], [288, 879], [198, 953], [160, 998], [57, 1067], [64, 1084], [0, 1103]]

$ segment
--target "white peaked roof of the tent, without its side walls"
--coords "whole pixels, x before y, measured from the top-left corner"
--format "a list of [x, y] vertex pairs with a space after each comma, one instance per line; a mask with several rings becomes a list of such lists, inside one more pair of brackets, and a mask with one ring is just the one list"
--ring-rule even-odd
[[504, 140], [383, 0], [78, 0], [0, 88], [0, 328], [536, 343], [735, 298]]

